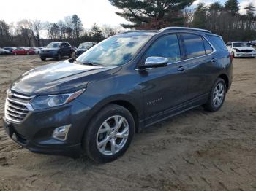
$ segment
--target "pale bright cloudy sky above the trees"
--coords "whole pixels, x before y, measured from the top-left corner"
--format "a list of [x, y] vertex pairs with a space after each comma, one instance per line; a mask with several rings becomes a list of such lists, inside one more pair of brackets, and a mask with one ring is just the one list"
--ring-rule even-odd
[[[196, 4], [204, 2], [224, 0], [196, 0], [192, 7]], [[240, 0], [241, 7], [246, 7], [249, 2], [253, 2], [256, 6], [256, 0]], [[49, 21], [50, 23], [63, 20], [64, 17], [77, 14], [83, 22], [85, 28], [91, 28], [93, 23], [102, 26], [119, 26], [120, 23], [127, 23], [123, 17], [115, 14], [118, 11], [108, 0], [3, 0], [1, 1], [0, 20], [7, 23], [15, 23], [23, 18], [31, 20]], [[242, 9], [241, 13], [244, 13]]]

